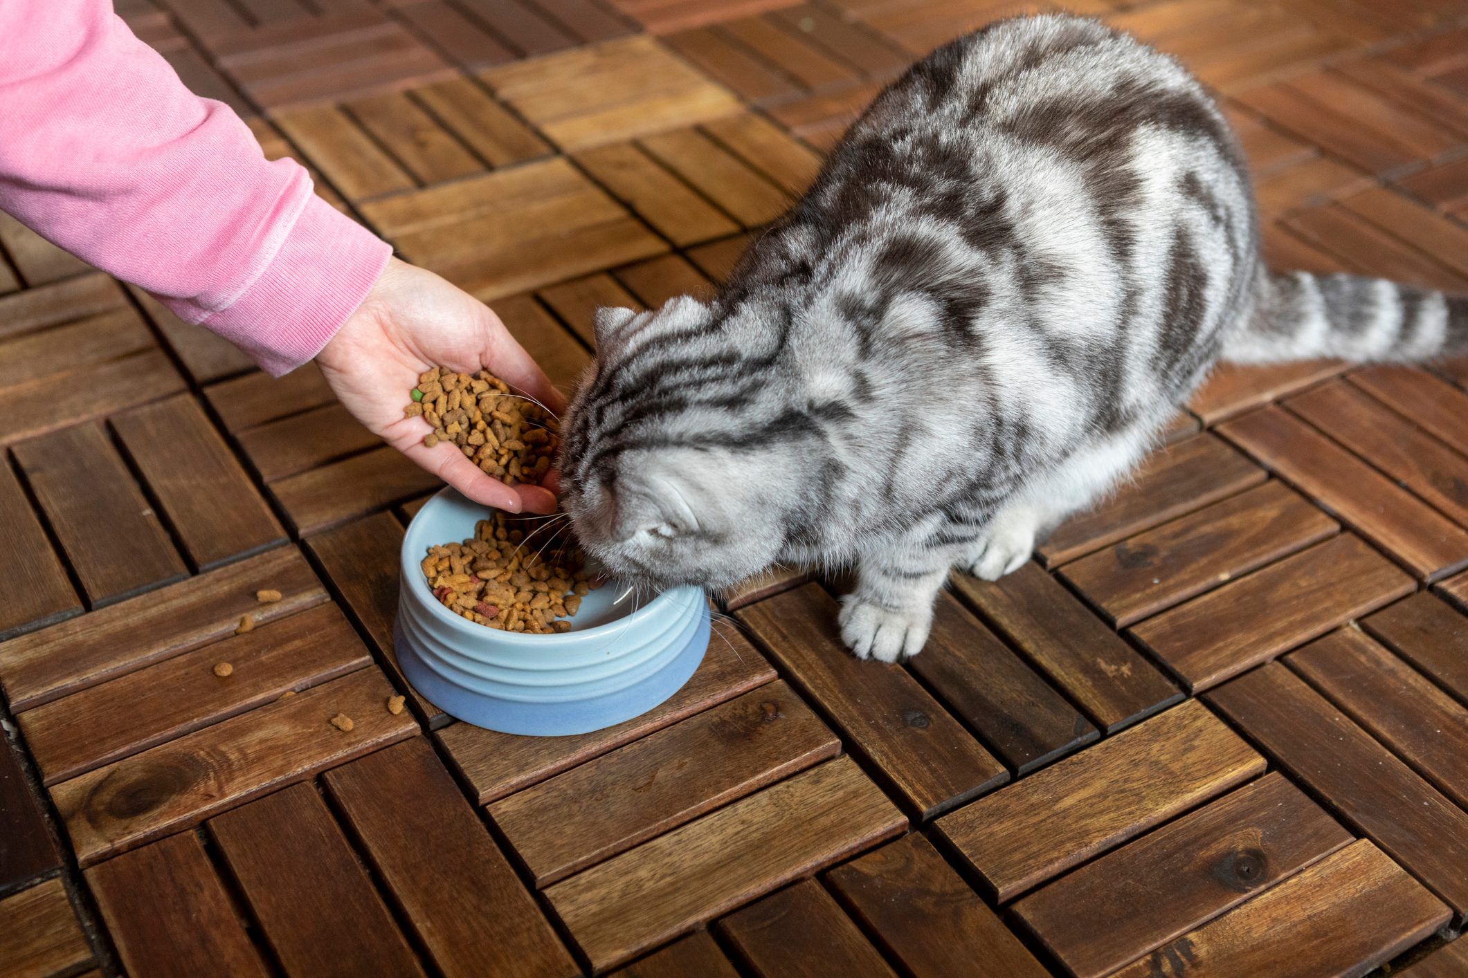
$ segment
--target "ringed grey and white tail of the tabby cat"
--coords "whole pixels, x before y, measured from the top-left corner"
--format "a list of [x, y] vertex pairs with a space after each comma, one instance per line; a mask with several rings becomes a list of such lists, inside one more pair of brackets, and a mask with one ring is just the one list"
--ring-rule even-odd
[[1315, 356], [1424, 361], [1458, 353], [1468, 353], [1468, 296], [1308, 271], [1261, 274], [1254, 314], [1223, 348], [1223, 359], [1235, 364]]

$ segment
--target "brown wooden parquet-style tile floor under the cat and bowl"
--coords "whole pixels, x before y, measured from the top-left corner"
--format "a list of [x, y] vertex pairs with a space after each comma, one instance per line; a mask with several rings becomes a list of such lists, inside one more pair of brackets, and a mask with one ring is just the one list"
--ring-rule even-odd
[[[561, 383], [1019, 9], [117, 4]], [[1468, 289], [1464, 0], [1070, 9], [1220, 92], [1276, 265]], [[1468, 974], [1468, 364], [1221, 369], [907, 666], [772, 575], [665, 705], [520, 739], [396, 669], [432, 478], [0, 221], [0, 974]]]

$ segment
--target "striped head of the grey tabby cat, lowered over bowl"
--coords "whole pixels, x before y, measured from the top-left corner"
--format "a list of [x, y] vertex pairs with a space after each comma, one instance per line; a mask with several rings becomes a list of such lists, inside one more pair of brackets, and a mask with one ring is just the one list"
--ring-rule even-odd
[[561, 425], [561, 501], [619, 578], [724, 588], [803, 532], [818, 434], [775, 358], [731, 326], [687, 296], [597, 309], [597, 362]]

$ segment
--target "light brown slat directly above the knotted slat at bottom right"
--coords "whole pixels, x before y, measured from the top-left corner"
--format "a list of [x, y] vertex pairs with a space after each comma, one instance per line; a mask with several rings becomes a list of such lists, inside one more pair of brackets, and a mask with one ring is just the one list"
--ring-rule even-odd
[[1189, 699], [937, 824], [1010, 900], [1262, 771], [1264, 758]]

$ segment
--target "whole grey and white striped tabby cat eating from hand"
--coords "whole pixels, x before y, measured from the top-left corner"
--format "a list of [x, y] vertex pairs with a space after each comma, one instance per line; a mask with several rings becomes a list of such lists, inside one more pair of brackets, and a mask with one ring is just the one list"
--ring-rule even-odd
[[1239, 147], [1170, 57], [1004, 21], [884, 91], [709, 305], [600, 309], [562, 427], [583, 544], [655, 585], [856, 563], [841, 633], [922, 650], [1157, 443], [1220, 359], [1468, 349], [1468, 302], [1270, 274]]

